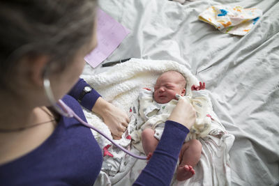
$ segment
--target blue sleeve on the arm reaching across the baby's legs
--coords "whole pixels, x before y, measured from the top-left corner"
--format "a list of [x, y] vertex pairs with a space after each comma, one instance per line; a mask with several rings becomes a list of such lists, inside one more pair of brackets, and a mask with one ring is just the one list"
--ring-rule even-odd
[[133, 185], [169, 185], [188, 132], [187, 127], [166, 121], [156, 150]]

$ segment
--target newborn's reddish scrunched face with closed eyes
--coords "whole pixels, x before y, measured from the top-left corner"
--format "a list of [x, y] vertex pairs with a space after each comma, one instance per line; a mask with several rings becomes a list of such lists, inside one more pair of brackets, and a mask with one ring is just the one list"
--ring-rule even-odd
[[167, 103], [176, 100], [175, 95], [185, 95], [185, 88], [179, 82], [176, 74], [164, 73], [161, 75], [154, 86], [154, 100], [158, 103]]

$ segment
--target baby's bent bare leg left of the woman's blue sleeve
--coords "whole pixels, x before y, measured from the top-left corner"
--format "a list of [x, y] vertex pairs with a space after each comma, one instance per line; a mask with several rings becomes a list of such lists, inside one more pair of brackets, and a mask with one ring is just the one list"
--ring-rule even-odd
[[153, 153], [159, 141], [154, 137], [154, 130], [146, 128], [142, 131], [142, 147], [146, 155]]

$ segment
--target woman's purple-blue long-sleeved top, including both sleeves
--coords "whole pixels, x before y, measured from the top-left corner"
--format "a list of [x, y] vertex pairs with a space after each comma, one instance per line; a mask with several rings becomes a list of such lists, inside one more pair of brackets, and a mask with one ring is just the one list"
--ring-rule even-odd
[[[63, 102], [84, 121], [77, 98], [86, 85], [79, 79], [69, 95], [63, 97]], [[84, 96], [81, 104], [91, 110], [99, 97], [93, 90]], [[173, 121], [165, 124], [158, 147], [134, 185], [169, 185], [171, 182], [189, 130]], [[43, 144], [0, 166], [0, 185], [93, 185], [102, 161], [102, 152], [91, 130], [75, 118], [61, 116], [56, 129]]]

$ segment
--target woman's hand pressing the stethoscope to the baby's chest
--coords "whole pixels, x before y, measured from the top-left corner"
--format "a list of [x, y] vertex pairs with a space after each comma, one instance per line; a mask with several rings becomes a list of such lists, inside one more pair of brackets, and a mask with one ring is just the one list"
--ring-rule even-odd
[[180, 123], [190, 130], [196, 121], [196, 111], [186, 98], [181, 98], [168, 120]]

